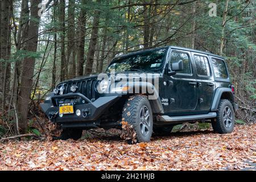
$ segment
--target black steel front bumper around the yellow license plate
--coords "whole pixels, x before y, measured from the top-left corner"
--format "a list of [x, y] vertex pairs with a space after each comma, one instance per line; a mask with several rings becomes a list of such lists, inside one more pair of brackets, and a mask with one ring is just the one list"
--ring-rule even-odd
[[[80, 97], [86, 101], [87, 104], [74, 104], [74, 114], [64, 114], [63, 117], [59, 115], [59, 105], [56, 103], [56, 98], [74, 98]], [[96, 101], [92, 102], [87, 97], [80, 93], [69, 93], [61, 96], [52, 96], [50, 100], [40, 104], [47, 117], [56, 123], [65, 122], [82, 122], [82, 121], [96, 121], [104, 113], [108, 107], [112, 106], [118, 101], [120, 96], [106, 96], [100, 97]], [[76, 110], [81, 111], [81, 115], [76, 115]]]

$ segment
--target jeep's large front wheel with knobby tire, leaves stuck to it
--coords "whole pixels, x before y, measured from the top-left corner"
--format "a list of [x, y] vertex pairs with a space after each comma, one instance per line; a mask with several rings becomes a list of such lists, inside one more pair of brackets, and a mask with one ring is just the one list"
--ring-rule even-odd
[[[148, 113], [146, 113], [148, 114], [149, 118], [146, 119], [146, 117], [141, 117], [140, 114], [142, 109], [148, 110]], [[122, 119], [123, 121], [133, 126], [135, 133], [137, 134], [138, 143], [150, 142], [153, 128], [153, 117], [150, 102], [148, 101], [146, 96], [135, 95], [129, 97], [125, 102], [125, 105], [123, 106]], [[146, 124], [146, 122], [148, 123], [148, 125]], [[144, 126], [145, 128], [143, 134], [142, 129]]]

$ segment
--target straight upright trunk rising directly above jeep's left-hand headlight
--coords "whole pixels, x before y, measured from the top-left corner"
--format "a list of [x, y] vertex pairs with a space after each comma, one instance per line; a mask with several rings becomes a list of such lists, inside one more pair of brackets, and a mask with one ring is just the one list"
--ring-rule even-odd
[[60, 0], [59, 19], [60, 19], [60, 81], [66, 77], [67, 61], [65, 59], [65, 0]]

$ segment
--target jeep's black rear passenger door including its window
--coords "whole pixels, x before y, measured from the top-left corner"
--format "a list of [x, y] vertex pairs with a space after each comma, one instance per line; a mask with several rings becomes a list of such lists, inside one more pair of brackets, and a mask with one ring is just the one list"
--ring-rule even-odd
[[193, 61], [196, 67], [196, 79], [199, 92], [200, 111], [209, 111], [212, 104], [213, 94], [215, 90], [215, 82], [210, 69], [210, 61], [208, 55], [201, 53], [193, 53]]

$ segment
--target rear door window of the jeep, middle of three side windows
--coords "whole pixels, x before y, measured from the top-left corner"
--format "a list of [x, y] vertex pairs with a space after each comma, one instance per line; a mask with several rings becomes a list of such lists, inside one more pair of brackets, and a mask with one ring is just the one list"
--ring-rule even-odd
[[210, 76], [210, 65], [207, 57], [194, 55], [197, 75]]

